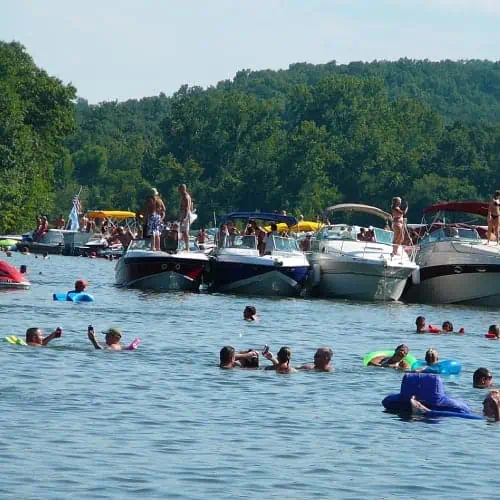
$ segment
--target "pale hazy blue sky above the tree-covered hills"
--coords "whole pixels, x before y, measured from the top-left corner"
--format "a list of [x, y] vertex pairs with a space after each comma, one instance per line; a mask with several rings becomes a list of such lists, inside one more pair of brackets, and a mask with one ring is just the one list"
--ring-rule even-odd
[[500, 0], [0, 0], [0, 40], [90, 103], [295, 62], [500, 59]]

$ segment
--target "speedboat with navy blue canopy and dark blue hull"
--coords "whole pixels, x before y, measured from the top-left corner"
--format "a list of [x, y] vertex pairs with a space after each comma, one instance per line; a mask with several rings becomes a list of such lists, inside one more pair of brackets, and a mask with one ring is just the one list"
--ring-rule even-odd
[[[260, 212], [233, 212], [221, 224], [234, 220], [297, 224], [295, 217]], [[249, 295], [299, 295], [309, 275], [307, 257], [290, 237], [268, 234], [266, 251], [255, 235], [230, 235], [211, 254], [211, 290]]]

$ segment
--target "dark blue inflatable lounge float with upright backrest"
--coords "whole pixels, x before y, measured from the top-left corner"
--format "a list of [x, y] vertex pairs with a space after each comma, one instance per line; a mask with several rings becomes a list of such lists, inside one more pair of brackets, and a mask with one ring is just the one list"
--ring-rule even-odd
[[407, 373], [401, 381], [400, 392], [390, 394], [384, 398], [382, 404], [390, 412], [411, 413], [412, 396], [433, 411], [474, 415], [466, 403], [445, 394], [441, 377], [433, 373]]

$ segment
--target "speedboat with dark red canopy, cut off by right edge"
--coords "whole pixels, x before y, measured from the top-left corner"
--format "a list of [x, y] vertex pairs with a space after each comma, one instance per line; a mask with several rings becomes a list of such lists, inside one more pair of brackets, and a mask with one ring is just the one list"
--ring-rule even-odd
[[[451, 222], [450, 212], [467, 214], [469, 223]], [[483, 227], [470, 224], [487, 214], [485, 202], [437, 203], [424, 210], [424, 217], [435, 219], [419, 241], [420, 272], [405, 291], [406, 301], [500, 306], [500, 247], [481, 238]]]

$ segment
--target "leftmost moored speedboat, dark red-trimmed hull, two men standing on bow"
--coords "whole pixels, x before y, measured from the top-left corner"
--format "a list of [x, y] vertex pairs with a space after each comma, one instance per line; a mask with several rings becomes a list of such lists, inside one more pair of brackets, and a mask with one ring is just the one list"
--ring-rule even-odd
[[198, 291], [208, 257], [200, 250], [186, 251], [177, 231], [162, 235], [161, 251], [150, 240], [133, 240], [116, 263], [118, 286], [154, 291]]

